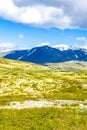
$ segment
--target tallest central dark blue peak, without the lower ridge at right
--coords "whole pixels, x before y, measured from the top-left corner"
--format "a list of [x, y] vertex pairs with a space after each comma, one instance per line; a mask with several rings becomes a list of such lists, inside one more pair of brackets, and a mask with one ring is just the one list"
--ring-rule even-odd
[[14, 51], [14, 53], [12, 52], [6, 55], [5, 58], [28, 61], [38, 64], [65, 61], [65, 57], [63, 56], [63, 53], [60, 50], [51, 48], [49, 46], [35, 47], [30, 51], [26, 50], [25, 52], [22, 50]]

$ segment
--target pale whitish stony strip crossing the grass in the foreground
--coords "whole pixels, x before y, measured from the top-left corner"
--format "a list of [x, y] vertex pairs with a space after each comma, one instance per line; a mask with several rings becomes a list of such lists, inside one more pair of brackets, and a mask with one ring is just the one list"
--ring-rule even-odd
[[0, 109], [23, 109], [23, 108], [42, 108], [42, 107], [58, 107], [58, 108], [63, 108], [63, 107], [79, 107], [79, 108], [85, 108], [87, 109], [87, 100], [85, 101], [78, 101], [78, 100], [52, 100], [52, 101], [45, 101], [45, 100], [40, 100], [40, 101], [33, 101], [33, 100], [26, 100], [23, 103], [21, 102], [9, 102], [8, 105], [6, 106], [1, 106]]

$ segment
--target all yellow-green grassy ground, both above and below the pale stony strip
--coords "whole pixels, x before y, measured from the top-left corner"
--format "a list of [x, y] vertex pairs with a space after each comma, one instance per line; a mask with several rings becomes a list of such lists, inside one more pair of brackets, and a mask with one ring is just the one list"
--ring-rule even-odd
[[[65, 72], [0, 58], [0, 105], [87, 99], [87, 71]], [[75, 105], [75, 104], [74, 104]], [[86, 130], [87, 109], [0, 109], [0, 130]]]

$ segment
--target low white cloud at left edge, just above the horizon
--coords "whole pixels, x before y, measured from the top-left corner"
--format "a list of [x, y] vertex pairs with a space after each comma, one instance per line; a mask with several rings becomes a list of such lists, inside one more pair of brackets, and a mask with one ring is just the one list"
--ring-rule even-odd
[[13, 43], [0, 43], [0, 52], [8, 52], [17, 49]]

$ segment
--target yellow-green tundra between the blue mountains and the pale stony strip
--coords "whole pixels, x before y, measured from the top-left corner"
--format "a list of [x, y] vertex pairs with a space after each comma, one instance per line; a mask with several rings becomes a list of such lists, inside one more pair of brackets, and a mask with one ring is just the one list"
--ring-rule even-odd
[[0, 58], [0, 104], [24, 100], [87, 99], [87, 71], [64, 72]]

